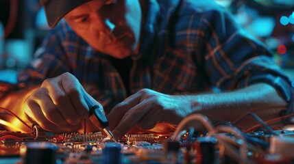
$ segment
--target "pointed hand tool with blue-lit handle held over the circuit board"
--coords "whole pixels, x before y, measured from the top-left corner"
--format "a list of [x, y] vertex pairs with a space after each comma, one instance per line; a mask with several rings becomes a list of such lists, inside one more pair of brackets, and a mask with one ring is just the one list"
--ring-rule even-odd
[[117, 142], [117, 139], [114, 138], [114, 135], [112, 135], [111, 131], [108, 128], [109, 123], [108, 123], [106, 116], [103, 113], [103, 109], [101, 107], [99, 107], [99, 105], [95, 105], [94, 102], [92, 102], [92, 100], [90, 100], [90, 98], [88, 98], [88, 96], [86, 95], [84, 90], [82, 90], [82, 92], [83, 92], [84, 100], [89, 108], [90, 121], [95, 126], [97, 126], [97, 128], [99, 128], [100, 131], [103, 130], [106, 133], [106, 135], [108, 135], [108, 137], [110, 137], [110, 139]]

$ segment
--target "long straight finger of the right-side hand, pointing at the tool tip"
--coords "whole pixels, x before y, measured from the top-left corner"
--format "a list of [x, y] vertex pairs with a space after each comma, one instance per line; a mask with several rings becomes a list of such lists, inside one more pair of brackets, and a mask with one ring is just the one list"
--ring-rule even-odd
[[[145, 100], [127, 111], [127, 113], [123, 115], [123, 118], [121, 118], [121, 121], [117, 127], [113, 129], [113, 135], [117, 138], [121, 138], [123, 135], [125, 135], [127, 131], [130, 131], [130, 129], [145, 116], [145, 114], [149, 111], [149, 107], [149, 103], [147, 103], [147, 100]], [[152, 122], [152, 120], [150, 121]]]

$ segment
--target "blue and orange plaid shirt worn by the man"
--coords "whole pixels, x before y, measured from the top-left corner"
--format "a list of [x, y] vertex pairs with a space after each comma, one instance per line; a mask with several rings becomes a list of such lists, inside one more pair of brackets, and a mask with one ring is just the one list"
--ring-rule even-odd
[[[271, 52], [225, 9], [209, 1], [149, 1], [140, 51], [132, 56], [132, 94], [143, 88], [164, 94], [228, 91], [262, 82], [291, 102], [291, 82]], [[109, 56], [95, 51], [66, 23], [51, 29], [18, 79], [41, 83], [63, 72], [75, 75], [106, 113], [127, 97]]]

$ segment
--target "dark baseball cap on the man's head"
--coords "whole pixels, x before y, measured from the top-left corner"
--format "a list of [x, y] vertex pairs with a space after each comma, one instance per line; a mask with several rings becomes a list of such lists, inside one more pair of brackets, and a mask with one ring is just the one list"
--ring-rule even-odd
[[44, 5], [49, 27], [56, 27], [60, 19], [79, 5], [92, 0], [40, 0]]

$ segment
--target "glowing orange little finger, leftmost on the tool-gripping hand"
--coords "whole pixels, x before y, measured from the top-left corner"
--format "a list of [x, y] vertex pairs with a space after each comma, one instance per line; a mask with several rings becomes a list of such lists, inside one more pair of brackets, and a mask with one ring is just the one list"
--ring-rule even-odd
[[25, 113], [29, 115], [38, 125], [47, 131], [53, 131], [58, 126], [47, 120], [40, 109], [40, 106], [34, 100], [27, 100], [25, 105]]

